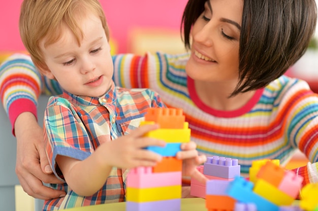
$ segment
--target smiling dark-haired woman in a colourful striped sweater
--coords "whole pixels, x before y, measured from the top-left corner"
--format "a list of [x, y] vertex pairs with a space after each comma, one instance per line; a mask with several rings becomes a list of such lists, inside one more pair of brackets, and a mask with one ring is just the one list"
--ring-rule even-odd
[[[306, 82], [282, 76], [306, 51], [315, 24], [314, 0], [189, 0], [182, 18], [189, 53], [114, 56], [114, 81], [151, 88], [168, 106], [182, 108], [197, 149], [239, 159], [243, 174], [252, 160], [283, 164], [298, 148], [312, 162], [298, 174], [304, 183], [317, 182], [318, 96]], [[40, 169], [38, 159], [43, 172], [48, 163], [35, 117], [37, 97], [30, 97], [39, 96], [43, 85], [58, 94], [58, 85], [47, 78], [41, 83], [24, 55], [9, 58], [1, 74], [20, 182], [29, 195], [58, 197], [63, 193], [40, 184], [54, 180]], [[26, 85], [23, 90], [19, 83]]]

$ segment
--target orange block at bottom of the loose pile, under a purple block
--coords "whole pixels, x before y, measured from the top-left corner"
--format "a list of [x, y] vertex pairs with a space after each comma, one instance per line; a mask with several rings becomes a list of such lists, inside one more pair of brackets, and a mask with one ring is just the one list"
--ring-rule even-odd
[[206, 195], [205, 206], [208, 210], [234, 210], [236, 200], [227, 195]]

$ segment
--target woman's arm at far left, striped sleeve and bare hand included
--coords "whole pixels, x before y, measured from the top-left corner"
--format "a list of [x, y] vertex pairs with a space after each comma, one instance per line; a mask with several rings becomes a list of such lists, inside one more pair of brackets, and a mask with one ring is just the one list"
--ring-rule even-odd
[[51, 174], [43, 145], [43, 129], [37, 121], [42, 81], [28, 55], [12, 55], [0, 65], [0, 97], [17, 139], [16, 174], [28, 195], [50, 199], [65, 195], [65, 192], [53, 190], [42, 183], [60, 183]]

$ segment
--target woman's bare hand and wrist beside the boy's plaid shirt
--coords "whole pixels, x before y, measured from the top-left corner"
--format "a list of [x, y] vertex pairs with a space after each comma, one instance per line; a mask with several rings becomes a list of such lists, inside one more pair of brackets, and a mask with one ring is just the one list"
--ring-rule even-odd
[[35, 116], [24, 112], [15, 121], [17, 139], [16, 174], [23, 190], [39, 199], [65, 196], [64, 191], [53, 190], [44, 183], [62, 183], [52, 174], [44, 149], [43, 129]]

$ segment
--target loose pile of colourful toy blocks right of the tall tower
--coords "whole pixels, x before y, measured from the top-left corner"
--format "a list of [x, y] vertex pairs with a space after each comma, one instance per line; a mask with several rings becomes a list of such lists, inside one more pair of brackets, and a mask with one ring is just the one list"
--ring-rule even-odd
[[[285, 171], [279, 160], [253, 161], [247, 181], [240, 177], [236, 160], [221, 159], [219, 163], [219, 157], [208, 158], [198, 168], [209, 179], [206, 187], [194, 179], [191, 181], [191, 194], [206, 198], [208, 211], [318, 211], [318, 184], [305, 186], [300, 207], [292, 206], [303, 178]], [[231, 167], [225, 168], [224, 160], [232, 160], [228, 161]], [[206, 195], [202, 193], [204, 190]]]

